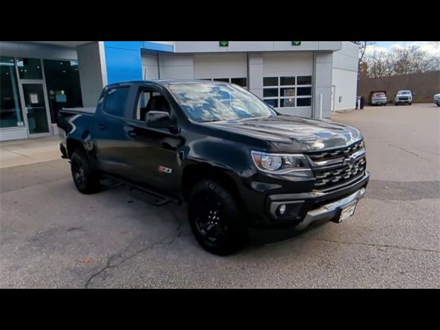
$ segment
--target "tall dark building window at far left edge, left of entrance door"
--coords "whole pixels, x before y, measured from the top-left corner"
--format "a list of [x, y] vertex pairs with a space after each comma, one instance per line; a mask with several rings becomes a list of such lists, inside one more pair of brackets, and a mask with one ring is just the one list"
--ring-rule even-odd
[[24, 126], [14, 58], [0, 56], [0, 127]]

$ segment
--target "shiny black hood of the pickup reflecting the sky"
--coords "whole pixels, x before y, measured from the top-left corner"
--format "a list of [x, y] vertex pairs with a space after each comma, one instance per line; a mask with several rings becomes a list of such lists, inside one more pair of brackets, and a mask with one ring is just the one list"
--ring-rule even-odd
[[322, 151], [342, 148], [362, 139], [358, 129], [334, 122], [293, 115], [274, 115], [206, 123], [217, 129], [272, 142], [281, 152]]

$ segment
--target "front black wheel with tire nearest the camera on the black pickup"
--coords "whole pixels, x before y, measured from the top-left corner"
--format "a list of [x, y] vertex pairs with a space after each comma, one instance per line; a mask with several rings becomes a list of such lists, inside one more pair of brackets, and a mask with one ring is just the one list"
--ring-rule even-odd
[[236, 199], [216, 181], [203, 180], [192, 189], [188, 219], [199, 244], [213, 254], [232, 254], [247, 240], [247, 226]]

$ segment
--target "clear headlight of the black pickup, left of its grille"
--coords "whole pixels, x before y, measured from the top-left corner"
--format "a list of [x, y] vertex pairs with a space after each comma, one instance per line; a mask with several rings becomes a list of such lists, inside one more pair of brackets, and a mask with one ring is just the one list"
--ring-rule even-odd
[[310, 164], [305, 155], [284, 155], [252, 151], [252, 159], [261, 172], [292, 175], [294, 177], [313, 177]]

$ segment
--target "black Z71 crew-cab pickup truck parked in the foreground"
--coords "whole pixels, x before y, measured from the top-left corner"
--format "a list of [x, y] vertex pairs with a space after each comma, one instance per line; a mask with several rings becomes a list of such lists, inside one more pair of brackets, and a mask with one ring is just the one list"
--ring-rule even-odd
[[96, 109], [58, 115], [76, 188], [109, 177], [188, 203], [190, 227], [214, 254], [248, 228], [306, 228], [353, 215], [369, 182], [362, 135], [331, 120], [282, 115], [246, 89], [206, 80], [108, 85]]

